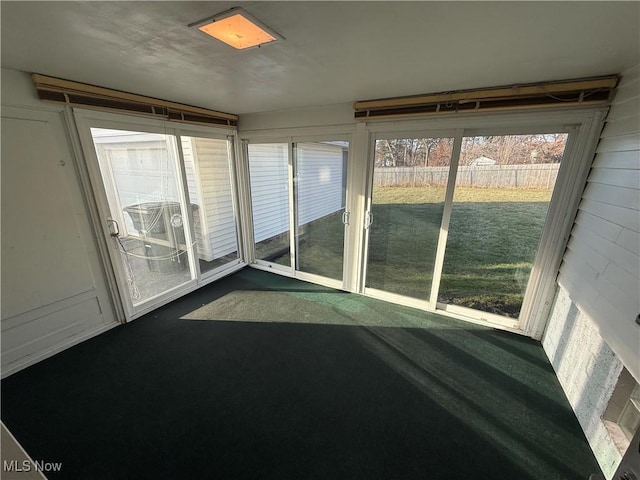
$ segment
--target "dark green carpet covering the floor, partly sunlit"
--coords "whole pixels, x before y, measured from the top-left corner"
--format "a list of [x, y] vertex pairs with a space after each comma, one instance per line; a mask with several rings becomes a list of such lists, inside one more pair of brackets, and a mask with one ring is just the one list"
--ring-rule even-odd
[[50, 478], [599, 472], [539, 343], [252, 269], [3, 380], [2, 420]]

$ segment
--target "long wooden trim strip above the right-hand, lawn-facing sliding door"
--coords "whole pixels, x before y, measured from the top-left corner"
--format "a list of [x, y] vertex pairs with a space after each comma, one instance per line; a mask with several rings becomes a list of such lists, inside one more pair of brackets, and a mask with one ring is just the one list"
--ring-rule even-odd
[[474, 111], [501, 111], [607, 105], [619, 77], [514, 85], [477, 90], [460, 90], [411, 97], [354, 102], [355, 118], [434, 115]]

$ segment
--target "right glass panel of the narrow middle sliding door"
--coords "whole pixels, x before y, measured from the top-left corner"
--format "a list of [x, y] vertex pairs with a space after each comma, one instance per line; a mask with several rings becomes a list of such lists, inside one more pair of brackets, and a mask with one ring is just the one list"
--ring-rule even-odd
[[296, 270], [342, 281], [348, 142], [294, 147]]

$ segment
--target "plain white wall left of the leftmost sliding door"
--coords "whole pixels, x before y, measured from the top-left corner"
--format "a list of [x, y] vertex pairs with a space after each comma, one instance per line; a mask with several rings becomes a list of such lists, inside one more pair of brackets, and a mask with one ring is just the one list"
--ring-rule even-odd
[[59, 107], [2, 75], [2, 375], [117, 325]]

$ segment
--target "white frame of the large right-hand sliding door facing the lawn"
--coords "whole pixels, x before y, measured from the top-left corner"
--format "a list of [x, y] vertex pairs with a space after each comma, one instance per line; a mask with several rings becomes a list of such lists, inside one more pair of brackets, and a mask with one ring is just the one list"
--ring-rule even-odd
[[[591, 166], [590, 161], [586, 161], [585, 159], [593, 158], [598, 141], [598, 134], [604, 125], [604, 118], [607, 111], [607, 107], [591, 107], [543, 112], [496, 113], [482, 116], [477, 114], [448, 115], [418, 120], [380, 120], [365, 123], [364, 127], [361, 128], [364, 128], [367, 135], [367, 186], [365, 193], [365, 210], [361, 218], [362, 242], [364, 247], [360, 259], [358, 292], [467, 322], [509, 330], [540, 339], [546, 326], [546, 319], [553, 302], [553, 296], [555, 295], [555, 277], [560, 268], [562, 255], [569, 240], [573, 219], [575, 218], [578, 203]], [[510, 321], [507, 317], [485, 314], [484, 312], [482, 315], [470, 315], [470, 313], [473, 313], [471, 309], [451, 308], [450, 306], [443, 308], [444, 305], [439, 304], [434, 295], [431, 296], [430, 301], [423, 301], [391, 294], [389, 292], [380, 293], [378, 291], [365, 289], [368, 249], [368, 232], [366, 231], [365, 217], [371, 205], [374, 150], [377, 136], [395, 135], [397, 133], [399, 136], [395, 138], [401, 138], [403, 134], [406, 135], [409, 132], [413, 132], [414, 134], [420, 132], [420, 137], [426, 137], [429, 136], [429, 134], [431, 134], [431, 136], [434, 134], [442, 136], [442, 132], [450, 129], [455, 129], [457, 135], [460, 135], [460, 138], [480, 134], [480, 132], [492, 132], [493, 134], [501, 135], [545, 133], [549, 131], [569, 133], [565, 153], [558, 172], [558, 178], [549, 203], [545, 226], [539, 240], [538, 253], [536, 254], [534, 267], [529, 276], [521, 313], [515, 322]], [[453, 186], [451, 182], [455, 182], [457, 170], [454, 172], [453, 168], [454, 165], [457, 166], [457, 163], [457, 159], [454, 162], [452, 158], [449, 170], [449, 183], [447, 186], [448, 203], [445, 203], [445, 213], [443, 213], [442, 227], [444, 228], [447, 227], [444, 223], [445, 219], [448, 220], [447, 217], [451, 212], [453, 199]], [[450, 186], [451, 198], [449, 199]], [[442, 241], [439, 241], [437, 254], [437, 258], [439, 258], [437, 261], [440, 262], [444, 258], [446, 235], [444, 244], [440, 245], [441, 243]]]

